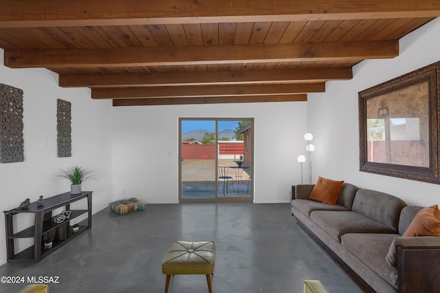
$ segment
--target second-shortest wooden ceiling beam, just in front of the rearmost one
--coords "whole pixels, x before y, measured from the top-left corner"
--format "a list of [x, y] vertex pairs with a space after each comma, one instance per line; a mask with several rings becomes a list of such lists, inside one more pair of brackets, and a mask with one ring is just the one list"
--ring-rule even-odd
[[203, 85], [198, 87], [119, 87], [91, 89], [91, 98], [178, 98], [222, 96], [271, 96], [324, 92], [325, 83], [298, 83], [281, 85]]

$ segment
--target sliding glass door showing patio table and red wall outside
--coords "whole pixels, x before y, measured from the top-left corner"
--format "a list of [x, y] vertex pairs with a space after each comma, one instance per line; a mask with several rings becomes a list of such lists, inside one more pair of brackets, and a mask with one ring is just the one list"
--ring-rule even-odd
[[252, 202], [252, 118], [179, 119], [179, 201]]

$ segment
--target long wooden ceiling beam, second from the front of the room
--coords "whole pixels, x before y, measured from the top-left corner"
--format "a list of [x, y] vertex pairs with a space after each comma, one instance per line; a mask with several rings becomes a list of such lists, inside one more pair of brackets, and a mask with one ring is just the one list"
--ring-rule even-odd
[[394, 58], [399, 41], [293, 43], [283, 45], [212, 45], [185, 47], [128, 47], [117, 49], [5, 50], [5, 66], [124, 67], [341, 61]]

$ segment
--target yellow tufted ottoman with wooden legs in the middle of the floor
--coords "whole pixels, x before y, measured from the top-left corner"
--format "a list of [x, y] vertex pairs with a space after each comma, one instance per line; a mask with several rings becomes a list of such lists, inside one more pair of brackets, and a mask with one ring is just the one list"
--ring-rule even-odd
[[212, 293], [211, 274], [214, 274], [215, 246], [213, 241], [175, 241], [162, 261], [166, 274], [165, 293], [173, 274], [206, 274], [208, 290]]

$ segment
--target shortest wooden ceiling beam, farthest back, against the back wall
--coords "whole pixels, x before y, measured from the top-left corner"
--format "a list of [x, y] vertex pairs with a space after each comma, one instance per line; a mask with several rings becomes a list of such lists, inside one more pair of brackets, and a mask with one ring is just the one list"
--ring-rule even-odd
[[237, 103], [237, 102], [305, 102], [305, 101], [307, 101], [307, 94], [278, 95], [278, 96], [197, 97], [197, 98], [133, 98], [133, 99], [115, 99], [113, 100], [113, 107], [223, 104], [223, 103]]

